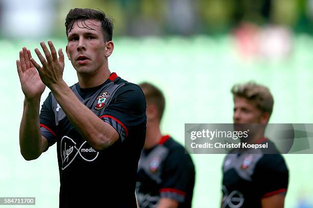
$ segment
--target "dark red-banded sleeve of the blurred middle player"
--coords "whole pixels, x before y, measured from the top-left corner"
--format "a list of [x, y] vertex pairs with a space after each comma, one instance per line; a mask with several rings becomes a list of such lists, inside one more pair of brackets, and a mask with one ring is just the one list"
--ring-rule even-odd
[[[189, 154], [179, 149], [170, 152], [165, 160], [160, 196], [185, 201], [186, 194], [193, 190], [195, 171]], [[190, 194], [190, 193], [189, 193]]]

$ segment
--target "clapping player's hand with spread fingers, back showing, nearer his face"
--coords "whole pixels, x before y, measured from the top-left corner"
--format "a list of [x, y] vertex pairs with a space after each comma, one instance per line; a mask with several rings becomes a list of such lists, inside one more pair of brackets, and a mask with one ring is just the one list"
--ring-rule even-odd
[[35, 48], [35, 53], [37, 54], [42, 67], [33, 58], [30, 61], [37, 69], [41, 81], [51, 89], [52, 87], [63, 82], [64, 55], [62, 48], [60, 48], [58, 51], [59, 58], [57, 57], [56, 49], [51, 40], [48, 41], [51, 54], [43, 41], [40, 42], [40, 45], [46, 59], [41, 55], [38, 48]]

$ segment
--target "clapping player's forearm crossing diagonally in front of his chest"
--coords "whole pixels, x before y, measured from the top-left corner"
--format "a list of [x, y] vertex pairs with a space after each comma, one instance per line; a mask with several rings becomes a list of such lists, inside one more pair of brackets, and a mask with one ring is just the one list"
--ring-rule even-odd
[[95, 149], [101, 150], [114, 142], [114, 133], [96, 114], [83, 105], [65, 82], [51, 87], [51, 91], [83, 138]]

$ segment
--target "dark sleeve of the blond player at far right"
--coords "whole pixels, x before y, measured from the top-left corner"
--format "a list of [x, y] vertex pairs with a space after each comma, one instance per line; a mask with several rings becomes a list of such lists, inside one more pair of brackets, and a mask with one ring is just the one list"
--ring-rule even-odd
[[281, 154], [264, 154], [254, 172], [262, 198], [286, 194], [289, 172]]

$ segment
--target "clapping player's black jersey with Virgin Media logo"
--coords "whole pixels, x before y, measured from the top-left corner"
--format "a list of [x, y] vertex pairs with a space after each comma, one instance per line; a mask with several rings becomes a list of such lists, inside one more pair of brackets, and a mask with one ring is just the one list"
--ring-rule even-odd
[[53, 94], [40, 111], [41, 134], [57, 143], [59, 207], [137, 207], [135, 188], [146, 134], [146, 101], [139, 86], [112, 73], [102, 85], [71, 87], [78, 99], [120, 137], [101, 151], [92, 148], [66, 118]]

